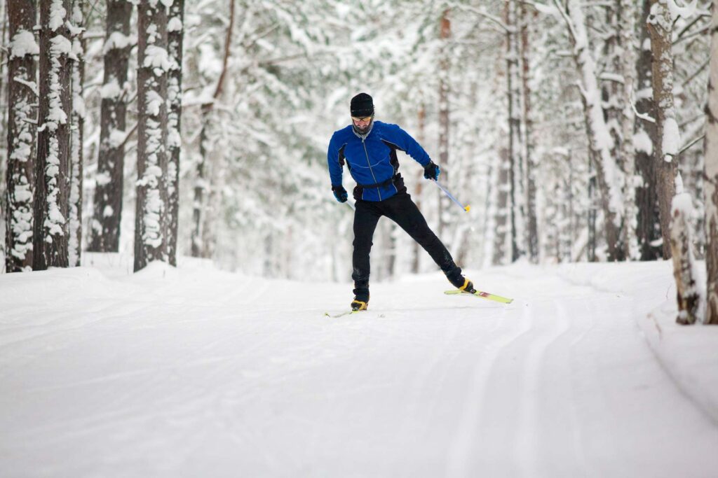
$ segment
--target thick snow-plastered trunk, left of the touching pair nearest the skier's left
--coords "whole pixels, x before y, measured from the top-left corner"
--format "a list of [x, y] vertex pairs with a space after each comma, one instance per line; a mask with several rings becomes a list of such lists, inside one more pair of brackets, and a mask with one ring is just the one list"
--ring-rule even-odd
[[167, 11], [141, 1], [138, 13], [135, 272], [167, 262]]

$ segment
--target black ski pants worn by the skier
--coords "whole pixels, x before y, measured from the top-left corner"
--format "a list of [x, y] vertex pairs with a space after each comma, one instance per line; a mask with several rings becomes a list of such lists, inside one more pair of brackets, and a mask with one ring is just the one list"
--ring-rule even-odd
[[441, 267], [449, 280], [461, 276], [451, 254], [436, 234], [429, 229], [426, 219], [416, 207], [411, 196], [405, 191], [383, 201], [356, 201], [354, 213], [354, 254], [352, 279], [354, 279], [355, 295], [368, 294], [369, 287], [369, 253], [376, 224], [381, 216], [386, 216], [404, 229], [412, 239], [418, 242]]

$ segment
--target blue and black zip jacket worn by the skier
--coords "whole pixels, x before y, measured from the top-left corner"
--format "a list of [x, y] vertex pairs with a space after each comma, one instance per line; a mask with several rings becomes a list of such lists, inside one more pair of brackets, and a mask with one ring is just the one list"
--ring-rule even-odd
[[398, 173], [396, 150], [404, 151], [421, 166], [432, 161], [424, 148], [397, 125], [374, 121], [364, 137], [355, 133], [352, 125], [336, 131], [327, 152], [332, 186], [342, 185], [342, 166], [346, 163], [357, 182], [354, 199], [383, 201], [406, 191]]

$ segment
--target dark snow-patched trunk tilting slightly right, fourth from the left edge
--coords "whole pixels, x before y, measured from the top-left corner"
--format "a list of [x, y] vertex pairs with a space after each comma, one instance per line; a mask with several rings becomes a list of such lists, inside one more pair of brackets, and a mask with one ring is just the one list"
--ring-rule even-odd
[[132, 4], [107, 0], [104, 79], [101, 89], [100, 148], [88, 250], [118, 252], [122, 219], [123, 168], [126, 137], [127, 67]]

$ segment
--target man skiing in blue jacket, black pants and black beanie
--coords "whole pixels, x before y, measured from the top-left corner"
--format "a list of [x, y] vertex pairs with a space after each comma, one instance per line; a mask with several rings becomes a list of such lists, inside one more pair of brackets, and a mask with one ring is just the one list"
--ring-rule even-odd
[[424, 178], [437, 180], [441, 170], [424, 148], [397, 125], [374, 120], [374, 103], [366, 93], [359, 93], [350, 103], [352, 124], [335, 131], [329, 143], [327, 161], [332, 191], [340, 203], [348, 194], [342, 186], [342, 166], [357, 183], [353, 196], [354, 253], [352, 256], [354, 300], [352, 310], [365, 310], [369, 303], [369, 253], [376, 224], [386, 216], [404, 229], [412, 239], [441, 267], [449, 282], [464, 292], [474, 293], [474, 285], [461, 274], [451, 254], [429, 229], [398, 173], [396, 150], [404, 151], [424, 166]]

